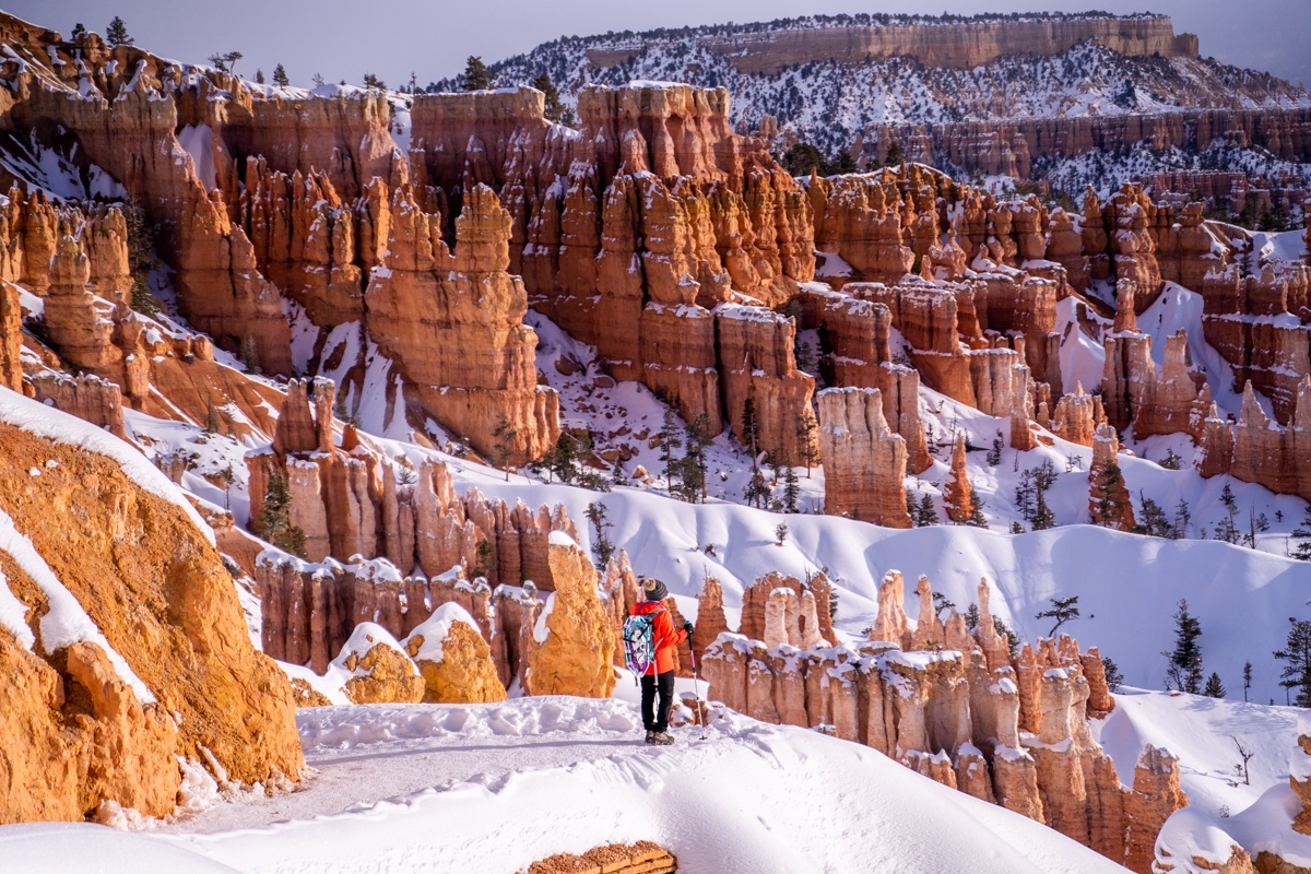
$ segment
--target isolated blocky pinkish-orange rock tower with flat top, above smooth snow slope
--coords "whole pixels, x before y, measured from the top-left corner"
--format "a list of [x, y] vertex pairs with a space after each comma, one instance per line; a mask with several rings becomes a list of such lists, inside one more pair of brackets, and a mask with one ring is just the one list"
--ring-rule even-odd
[[878, 389], [825, 389], [818, 400], [826, 512], [910, 528], [906, 440], [888, 427]]

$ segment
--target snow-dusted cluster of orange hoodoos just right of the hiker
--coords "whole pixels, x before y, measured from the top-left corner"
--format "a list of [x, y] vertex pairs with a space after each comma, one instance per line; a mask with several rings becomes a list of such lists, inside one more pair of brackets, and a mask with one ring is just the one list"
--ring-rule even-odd
[[1114, 706], [1096, 650], [1080, 654], [1062, 636], [1012, 660], [992, 628], [986, 580], [971, 633], [954, 609], [939, 620], [922, 577], [910, 630], [902, 587], [889, 571], [869, 641], [798, 647], [794, 590], [759, 580], [743, 598], [742, 633], [721, 633], [705, 653], [714, 697], [766, 722], [826, 726], [1146, 873], [1143, 841], [1186, 799], [1173, 759], [1148, 748], [1126, 789], [1093, 742], [1089, 715]]

